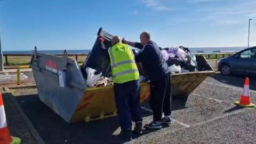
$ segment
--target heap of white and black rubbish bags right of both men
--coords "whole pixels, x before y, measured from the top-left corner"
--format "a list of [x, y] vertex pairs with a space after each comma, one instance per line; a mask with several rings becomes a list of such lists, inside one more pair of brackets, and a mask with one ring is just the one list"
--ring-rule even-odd
[[162, 49], [162, 54], [172, 74], [197, 71], [196, 57], [187, 47], [166, 47]]

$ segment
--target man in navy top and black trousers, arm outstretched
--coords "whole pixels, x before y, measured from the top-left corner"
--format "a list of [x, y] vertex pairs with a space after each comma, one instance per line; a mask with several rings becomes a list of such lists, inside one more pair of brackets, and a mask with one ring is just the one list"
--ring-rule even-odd
[[[153, 110], [153, 122], [145, 125], [150, 129], [161, 129], [161, 123], [171, 124], [171, 73], [158, 45], [150, 40], [150, 34], [143, 32], [140, 42], [125, 44], [141, 49], [135, 60], [142, 62], [146, 75], [150, 79], [150, 107]], [[162, 113], [164, 117], [162, 118]]]

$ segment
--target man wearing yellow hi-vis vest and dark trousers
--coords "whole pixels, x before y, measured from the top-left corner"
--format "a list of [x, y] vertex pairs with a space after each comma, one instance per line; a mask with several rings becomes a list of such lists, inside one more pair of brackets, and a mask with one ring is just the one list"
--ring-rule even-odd
[[[106, 49], [104, 39], [99, 37], [101, 47]], [[112, 76], [116, 107], [121, 125], [121, 135], [132, 139], [132, 121], [135, 122], [134, 131], [142, 134], [142, 118], [140, 106], [139, 71], [134, 60], [133, 52], [129, 45], [123, 44], [120, 37], [114, 36], [108, 53]]]

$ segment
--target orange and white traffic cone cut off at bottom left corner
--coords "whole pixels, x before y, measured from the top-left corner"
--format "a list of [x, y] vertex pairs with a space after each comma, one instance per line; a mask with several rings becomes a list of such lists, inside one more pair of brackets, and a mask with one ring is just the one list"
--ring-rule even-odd
[[2, 93], [0, 91], [0, 144], [20, 144], [21, 140], [17, 137], [11, 137], [9, 129], [7, 127], [4, 102]]

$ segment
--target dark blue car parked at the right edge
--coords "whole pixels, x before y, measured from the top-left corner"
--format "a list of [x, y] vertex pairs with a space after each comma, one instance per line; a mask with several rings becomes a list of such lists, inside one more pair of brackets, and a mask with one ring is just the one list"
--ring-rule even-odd
[[218, 70], [223, 75], [245, 74], [256, 76], [256, 46], [220, 59]]

